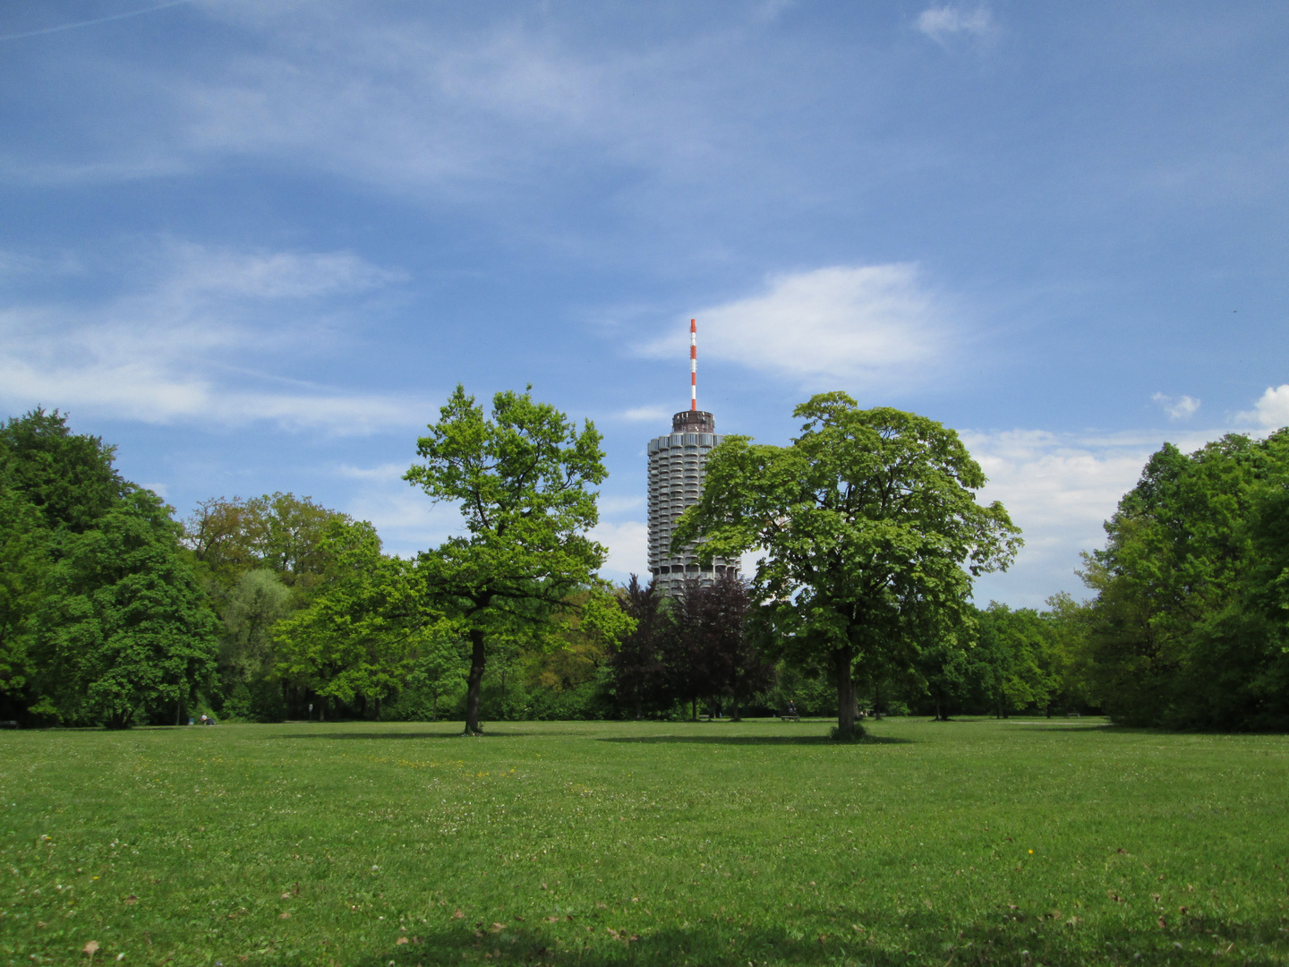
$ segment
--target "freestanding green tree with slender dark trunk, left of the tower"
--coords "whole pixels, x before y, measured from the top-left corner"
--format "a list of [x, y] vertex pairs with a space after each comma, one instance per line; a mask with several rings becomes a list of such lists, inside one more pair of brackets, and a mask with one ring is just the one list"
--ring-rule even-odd
[[[586, 536], [598, 521], [592, 487], [607, 476], [599, 440], [590, 420], [579, 431], [528, 393], [496, 393], [487, 416], [460, 386], [418, 440], [424, 462], [405, 480], [455, 502], [468, 531], [423, 553], [418, 566], [429, 600], [459, 618], [470, 640], [468, 734], [480, 730], [490, 637], [576, 607], [575, 592], [601, 587], [605, 548]], [[606, 620], [611, 611], [599, 609]]]

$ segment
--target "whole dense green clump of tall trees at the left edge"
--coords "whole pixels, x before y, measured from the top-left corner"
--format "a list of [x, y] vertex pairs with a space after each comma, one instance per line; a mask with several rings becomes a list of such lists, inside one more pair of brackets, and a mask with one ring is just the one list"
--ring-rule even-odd
[[0, 427], [0, 698], [72, 725], [173, 721], [214, 667], [214, 615], [170, 508], [57, 410]]

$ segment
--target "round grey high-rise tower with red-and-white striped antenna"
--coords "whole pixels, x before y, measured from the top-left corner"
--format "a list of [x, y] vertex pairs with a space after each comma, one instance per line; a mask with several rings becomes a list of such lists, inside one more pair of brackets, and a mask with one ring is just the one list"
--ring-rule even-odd
[[690, 409], [672, 416], [672, 432], [648, 441], [648, 570], [670, 593], [686, 579], [710, 584], [718, 574], [737, 571], [736, 561], [717, 558], [699, 566], [693, 548], [672, 553], [672, 530], [686, 507], [699, 503], [704, 465], [721, 442], [717, 420], [699, 409], [697, 322], [690, 320]]

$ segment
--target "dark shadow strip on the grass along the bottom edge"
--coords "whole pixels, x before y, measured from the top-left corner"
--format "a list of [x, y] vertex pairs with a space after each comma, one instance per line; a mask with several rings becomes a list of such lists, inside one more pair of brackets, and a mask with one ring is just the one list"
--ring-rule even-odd
[[[822, 912], [820, 912], [822, 913]], [[411, 930], [406, 944], [351, 961], [354, 967], [414, 967], [440, 963], [522, 964], [523, 967], [621, 967], [691, 963], [710, 967], [802, 964], [824, 967], [907, 967], [916, 964], [1105, 964], [1188, 967], [1221, 962], [1283, 964], [1286, 944], [1279, 923], [1228, 923], [1194, 918], [1173, 927], [1132, 927], [1121, 921], [1084, 923], [1051, 914], [1026, 917], [998, 910], [972, 923], [923, 912], [891, 922], [887, 915], [833, 908], [808, 924], [751, 927], [731, 917], [719, 924], [612, 930], [612, 923], [492, 924], [474, 930]], [[987, 919], [987, 922], [986, 922]], [[819, 923], [826, 926], [819, 927]], [[495, 932], [494, 932], [494, 928]], [[418, 936], [419, 933], [419, 936]]]

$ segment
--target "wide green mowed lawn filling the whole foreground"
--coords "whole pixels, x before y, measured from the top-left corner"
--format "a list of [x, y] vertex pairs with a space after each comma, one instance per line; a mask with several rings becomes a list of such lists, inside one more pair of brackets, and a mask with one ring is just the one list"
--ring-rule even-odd
[[1289, 737], [0, 734], [0, 964], [1289, 963]]

